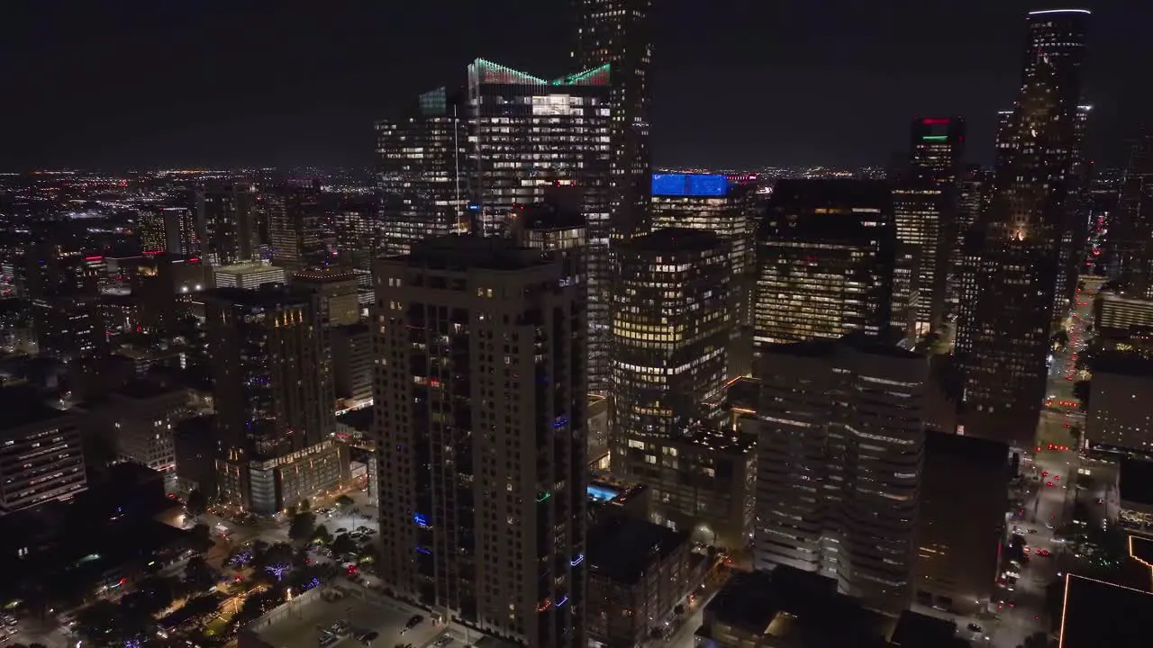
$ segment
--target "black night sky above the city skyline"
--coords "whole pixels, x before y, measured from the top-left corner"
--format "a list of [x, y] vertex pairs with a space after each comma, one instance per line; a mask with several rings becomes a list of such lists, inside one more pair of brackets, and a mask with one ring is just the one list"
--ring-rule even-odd
[[[655, 0], [661, 165], [882, 165], [959, 114], [973, 160], [1023, 15], [1095, 15], [1090, 150], [1153, 121], [1147, 0]], [[565, 71], [567, 0], [3, 0], [0, 169], [371, 163], [371, 122], [484, 56]]]

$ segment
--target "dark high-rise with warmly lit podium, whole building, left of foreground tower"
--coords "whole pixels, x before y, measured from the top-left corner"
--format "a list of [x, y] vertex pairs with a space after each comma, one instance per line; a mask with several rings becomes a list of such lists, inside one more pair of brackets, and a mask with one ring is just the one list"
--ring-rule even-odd
[[332, 372], [310, 296], [266, 285], [203, 299], [221, 497], [271, 514], [347, 477], [347, 453], [330, 438]]

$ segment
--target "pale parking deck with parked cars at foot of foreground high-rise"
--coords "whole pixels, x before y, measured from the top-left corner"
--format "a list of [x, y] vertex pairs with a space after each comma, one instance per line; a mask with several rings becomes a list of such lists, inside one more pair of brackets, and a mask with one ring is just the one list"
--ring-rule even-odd
[[[406, 631], [408, 619], [417, 613], [424, 619]], [[306, 602], [258, 632], [274, 648], [318, 648], [322, 632], [341, 620], [348, 621], [351, 633], [325, 648], [364, 646], [356, 639], [364, 632], [377, 633], [369, 646], [392, 648], [398, 643], [412, 643], [415, 648], [423, 648], [446, 630], [444, 625], [434, 624], [427, 612], [407, 609], [400, 603], [382, 605], [346, 596], [331, 603], [321, 600]]]

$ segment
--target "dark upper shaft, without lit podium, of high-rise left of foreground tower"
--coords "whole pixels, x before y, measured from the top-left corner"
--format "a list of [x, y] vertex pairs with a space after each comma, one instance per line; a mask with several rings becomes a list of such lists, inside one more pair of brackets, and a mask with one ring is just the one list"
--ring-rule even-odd
[[326, 439], [332, 384], [317, 371], [321, 326], [309, 295], [269, 285], [213, 288], [203, 300], [221, 438], [262, 458]]

